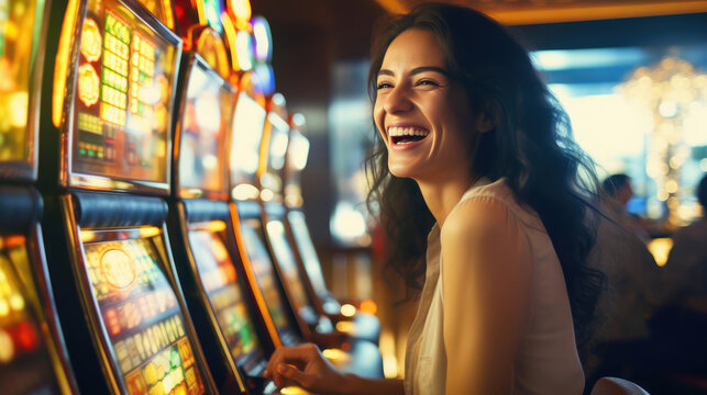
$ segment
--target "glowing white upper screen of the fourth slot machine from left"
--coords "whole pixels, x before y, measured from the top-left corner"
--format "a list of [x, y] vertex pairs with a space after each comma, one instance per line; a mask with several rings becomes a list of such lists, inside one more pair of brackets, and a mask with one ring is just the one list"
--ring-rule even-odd
[[245, 92], [239, 95], [233, 114], [231, 185], [252, 183], [257, 171], [266, 112]]

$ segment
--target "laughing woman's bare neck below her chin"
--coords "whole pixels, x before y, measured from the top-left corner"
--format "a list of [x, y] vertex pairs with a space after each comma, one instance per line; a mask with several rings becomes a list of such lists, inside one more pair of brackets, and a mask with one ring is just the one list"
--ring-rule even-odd
[[473, 176], [432, 182], [416, 181], [420, 188], [424, 203], [439, 226], [442, 227], [444, 219], [446, 219], [446, 216], [452, 212], [456, 203], [462, 200], [464, 192], [476, 183], [479, 177]]

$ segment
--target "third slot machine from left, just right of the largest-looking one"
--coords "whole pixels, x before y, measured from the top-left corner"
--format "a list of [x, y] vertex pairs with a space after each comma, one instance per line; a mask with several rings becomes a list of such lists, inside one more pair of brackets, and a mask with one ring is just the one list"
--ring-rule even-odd
[[[228, 204], [227, 153], [235, 92], [201, 57], [183, 60], [170, 232], [177, 271], [222, 392], [270, 394], [274, 350], [239, 259]], [[270, 324], [272, 325], [272, 324]]]

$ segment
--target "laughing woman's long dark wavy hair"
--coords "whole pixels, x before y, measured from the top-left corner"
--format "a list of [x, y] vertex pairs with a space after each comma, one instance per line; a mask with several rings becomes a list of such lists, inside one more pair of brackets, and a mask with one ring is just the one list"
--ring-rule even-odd
[[[450, 4], [418, 5], [380, 21], [374, 33], [368, 93], [376, 98], [377, 74], [390, 43], [409, 29], [432, 32], [446, 57], [448, 72], [465, 88], [472, 114], [496, 121], [468, 166], [473, 174], [507, 180], [518, 201], [542, 219], [562, 264], [577, 345], [590, 338], [592, 318], [604, 274], [587, 257], [596, 239], [598, 180], [593, 161], [572, 138], [567, 115], [534, 69], [528, 52], [500, 24]], [[434, 224], [417, 183], [388, 169], [378, 136], [366, 160], [371, 176], [367, 204], [379, 212], [387, 236], [388, 266], [420, 289], [426, 270], [427, 234]], [[472, 150], [470, 150], [472, 151]]]

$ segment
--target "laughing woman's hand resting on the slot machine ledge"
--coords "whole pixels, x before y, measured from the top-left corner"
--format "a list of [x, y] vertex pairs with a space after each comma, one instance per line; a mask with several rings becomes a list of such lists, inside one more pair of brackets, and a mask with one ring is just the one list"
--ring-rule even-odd
[[312, 343], [275, 350], [265, 368], [265, 376], [272, 379], [278, 387], [297, 385], [323, 394], [342, 393], [349, 379]]

